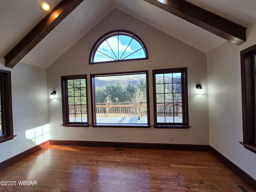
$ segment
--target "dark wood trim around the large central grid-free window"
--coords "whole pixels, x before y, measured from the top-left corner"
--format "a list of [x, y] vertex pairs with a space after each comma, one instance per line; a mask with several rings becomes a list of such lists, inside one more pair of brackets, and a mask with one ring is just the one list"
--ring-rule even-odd
[[[95, 104], [95, 80], [96, 76], [114, 76], [125, 74], [146, 74], [146, 97], [147, 97], [147, 124], [103, 124], [96, 123], [96, 104]], [[144, 71], [132, 71], [132, 72], [116, 72], [116, 73], [104, 73], [104, 74], [90, 74], [91, 80], [91, 102], [92, 102], [92, 127], [108, 127], [108, 128], [150, 128], [150, 109], [149, 109], [149, 92], [148, 92], [148, 70]]]

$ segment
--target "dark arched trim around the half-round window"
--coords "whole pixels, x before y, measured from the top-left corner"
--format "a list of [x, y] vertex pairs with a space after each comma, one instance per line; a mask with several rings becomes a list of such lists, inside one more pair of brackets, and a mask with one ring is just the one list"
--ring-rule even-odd
[[[102, 42], [104, 42], [106, 39], [112, 37], [112, 36], [116, 36], [116, 35], [126, 35], [126, 36], [130, 36], [132, 38], [134, 38], [138, 43], [140, 43], [140, 45], [142, 46], [142, 48], [144, 49], [145, 58], [134, 58], [134, 59], [122, 59], [122, 60], [113, 60], [113, 61], [103, 61], [103, 62], [94, 62], [94, 55], [96, 53], [96, 51], [98, 50], [98, 47], [102, 44]], [[148, 59], [148, 51], [147, 48], [144, 44], [144, 42], [142, 41], [142, 39], [137, 36], [136, 34], [127, 31], [127, 30], [114, 30], [114, 31], [110, 31], [104, 35], [102, 35], [92, 46], [92, 50], [90, 52], [90, 58], [89, 58], [89, 64], [98, 64], [98, 63], [110, 63], [110, 62], [120, 62], [120, 61], [130, 61], [130, 60], [144, 60], [144, 59]]]

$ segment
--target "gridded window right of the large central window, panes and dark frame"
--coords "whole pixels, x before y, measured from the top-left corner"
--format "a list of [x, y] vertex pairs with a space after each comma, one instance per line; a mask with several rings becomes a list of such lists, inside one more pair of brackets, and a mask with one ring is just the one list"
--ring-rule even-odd
[[154, 127], [188, 128], [187, 69], [153, 70]]

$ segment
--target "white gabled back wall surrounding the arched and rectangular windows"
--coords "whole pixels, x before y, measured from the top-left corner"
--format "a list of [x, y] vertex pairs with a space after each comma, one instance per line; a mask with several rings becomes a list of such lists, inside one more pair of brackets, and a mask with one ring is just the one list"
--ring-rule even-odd
[[[148, 49], [149, 60], [89, 65], [93, 44], [111, 30], [129, 30], [137, 34]], [[89, 124], [91, 121], [90, 74], [149, 70], [150, 124], [153, 125], [152, 70], [188, 68], [188, 109], [191, 128], [77, 128], [62, 127], [62, 98], [60, 76], [87, 74]], [[202, 84], [206, 94], [199, 95], [196, 84]], [[49, 100], [49, 126], [52, 140], [85, 140], [106, 142], [145, 142], [176, 144], [209, 144], [206, 54], [160, 32], [131, 16], [114, 9], [47, 69], [48, 92], [57, 91]], [[78, 138], [81, 134], [81, 138]], [[116, 134], [119, 139], [116, 140]], [[173, 142], [169, 137], [173, 136]]]

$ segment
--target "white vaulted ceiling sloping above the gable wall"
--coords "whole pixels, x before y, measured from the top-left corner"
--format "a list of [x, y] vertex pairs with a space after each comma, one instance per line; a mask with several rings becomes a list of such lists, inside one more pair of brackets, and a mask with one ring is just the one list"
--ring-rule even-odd
[[[0, 57], [6, 57], [12, 48], [48, 14], [40, 9], [40, 2], [41, 0], [0, 0]], [[61, 0], [48, 0], [48, 2], [51, 8], [54, 8]], [[55, 28], [47, 28], [44, 31], [47, 32], [46, 36], [38, 33], [42, 38], [38, 44], [30, 40], [33, 44], [32, 50], [28, 51], [26, 46], [22, 50], [15, 50], [14, 55], [18, 55], [17, 52], [22, 53], [21, 56], [16, 56], [16, 61], [48, 68], [114, 8], [206, 54], [227, 40], [235, 44], [241, 44], [245, 40], [236, 35], [238, 31], [236, 29], [228, 32], [231, 33], [230, 36], [225, 34], [225, 29], [214, 26], [214, 21], [211, 20], [212, 14], [209, 12], [214, 13], [214, 20], [218, 18], [215, 15], [222, 17], [218, 20], [220, 27], [223, 25], [221, 24], [223, 18], [240, 25], [239, 29], [244, 28], [244, 30], [256, 23], [255, 0], [186, 0], [185, 4], [175, 4], [177, 0], [76, 0], [76, 2], [78, 4], [70, 8], [63, 6], [70, 11], [70, 14], [63, 16], [56, 23], [56, 27], [53, 25]], [[186, 4], [187, 2], [207, 11], [199, 14], [197, 18], [200, 9], [194, 11], [193, 7]], [[183, 14], [184, 8], [188, 5], [191, 10]], [[37, 40], [38, 36], [34, 39]], [[13, 66], [15, 62], [10, 65]]]

